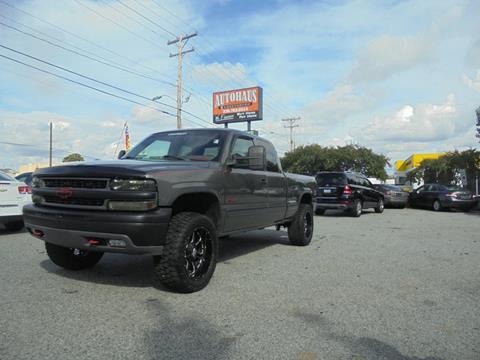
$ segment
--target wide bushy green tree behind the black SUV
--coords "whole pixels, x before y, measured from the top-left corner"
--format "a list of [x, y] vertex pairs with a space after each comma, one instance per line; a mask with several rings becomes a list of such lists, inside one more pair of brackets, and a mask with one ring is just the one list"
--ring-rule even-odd
[[357, 171], [381, 180], [387, 178], [385, 166], [389, 159], [359, 145], [322, 147], [301, 146], [282, 158], [285, 170], [315, 175], [319, 171]]

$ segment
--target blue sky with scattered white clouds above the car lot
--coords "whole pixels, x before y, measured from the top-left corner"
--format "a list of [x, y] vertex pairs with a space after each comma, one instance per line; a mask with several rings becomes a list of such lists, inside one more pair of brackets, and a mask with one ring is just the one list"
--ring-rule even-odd
[[47, 162], [50, 122], [54, 162], [112, 159], [125, 122], [133, 144], [174, 129], [167, 42], [195, 31], [185, 128], [215, 127], [213, 92], [258, 85], [252, 128], [280, 155], [291, 117], [296, 146], [358, 144], [392, 163], [478, 147], [479, 13], [478, 0], [0, 0], [0, 168]]

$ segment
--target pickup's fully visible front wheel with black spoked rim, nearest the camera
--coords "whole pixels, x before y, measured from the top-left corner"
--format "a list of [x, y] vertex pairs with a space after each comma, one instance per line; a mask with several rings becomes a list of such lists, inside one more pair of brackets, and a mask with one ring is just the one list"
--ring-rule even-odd
[[215, 225], [205, 215], [182, 212], [168, 226], [163, 253], [154, 257], [155, 276], [164, 286], [182, 293], [209, 283], [218, 257]]

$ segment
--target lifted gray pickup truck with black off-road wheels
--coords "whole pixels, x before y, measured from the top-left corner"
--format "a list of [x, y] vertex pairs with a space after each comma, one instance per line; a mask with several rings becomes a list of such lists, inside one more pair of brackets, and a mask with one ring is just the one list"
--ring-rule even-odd
[[204, 288], [218, 239], [268, 226], [290, 242], [313, 233], [315, 179], [285, 174], [273, 145], [231, 129], [150, 135], [119, 160], [37, 170], [25, 226], [57, 265], [81, 270], [105, 252], [151, 254], [156, 278]]

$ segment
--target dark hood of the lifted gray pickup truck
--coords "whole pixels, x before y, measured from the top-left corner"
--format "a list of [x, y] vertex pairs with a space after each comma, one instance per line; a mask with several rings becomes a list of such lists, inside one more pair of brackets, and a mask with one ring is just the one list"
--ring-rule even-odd
[[207, 161], [140, 161], [140, 160], [109, 160], [76, 162], [66, 165], [42, 168], [35, 171], [37, 176], [59, 177], [148, 177], [163, 171], [181, 171], [218, 168], [216, 162]]

